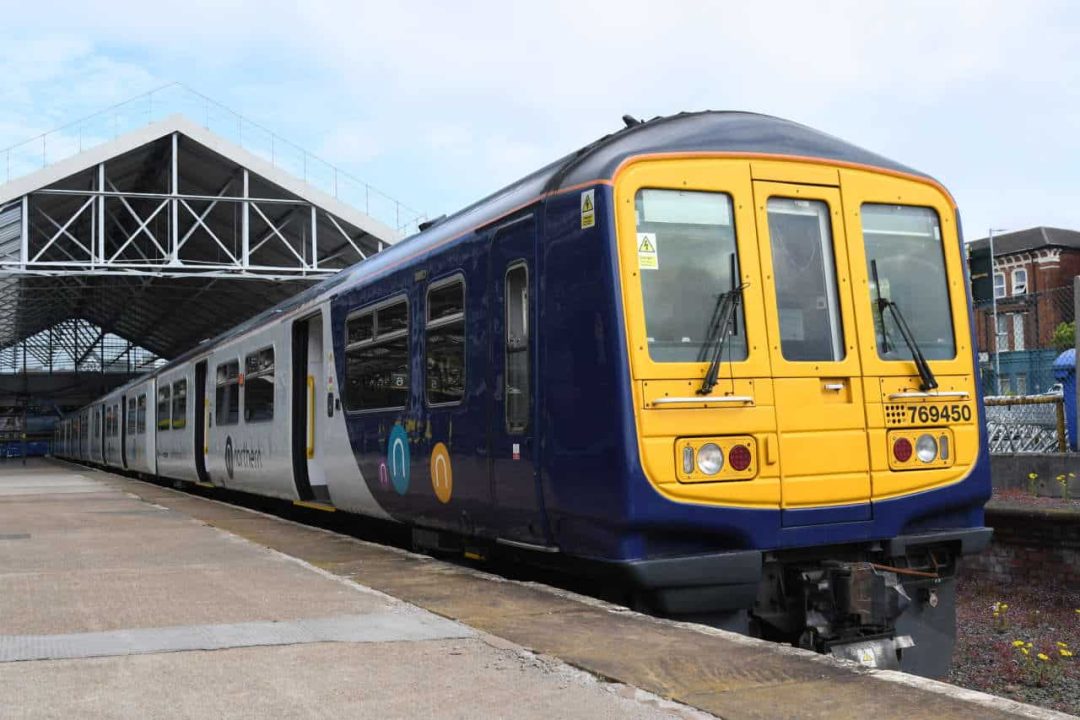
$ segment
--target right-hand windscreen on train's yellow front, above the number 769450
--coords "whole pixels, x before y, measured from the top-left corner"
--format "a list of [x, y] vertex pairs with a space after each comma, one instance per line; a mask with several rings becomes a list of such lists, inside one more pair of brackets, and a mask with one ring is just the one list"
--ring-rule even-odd
[[929, 207], [866, 203], [862, 223], [878, 356], [912, 359], [895, 318], [879, 310], [878, 300], [885, 299], [896, 303], [927, 359], [956, 357], [937, 214]]

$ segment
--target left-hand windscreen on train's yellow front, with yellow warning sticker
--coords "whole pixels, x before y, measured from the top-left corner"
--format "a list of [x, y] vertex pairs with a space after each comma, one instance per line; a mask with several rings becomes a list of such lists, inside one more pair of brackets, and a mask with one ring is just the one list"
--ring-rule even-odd
[[[720, 192], [643, 189], [635, 198], [636, 262], [649, 356], [711, 359], [706, 342], [723, 293], [739, 276], [731, 198]], [[746, 359], [742, 307], [725, 361]]]

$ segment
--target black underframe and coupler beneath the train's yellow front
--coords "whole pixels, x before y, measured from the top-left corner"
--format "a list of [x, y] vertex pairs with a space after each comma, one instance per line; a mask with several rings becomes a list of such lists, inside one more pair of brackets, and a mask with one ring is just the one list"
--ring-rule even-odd
[[957, 571], [989, 536], [988, 528], [973, 528], [627, 569], [643, 609], [867, 667], [944, 677], [956, 638]]

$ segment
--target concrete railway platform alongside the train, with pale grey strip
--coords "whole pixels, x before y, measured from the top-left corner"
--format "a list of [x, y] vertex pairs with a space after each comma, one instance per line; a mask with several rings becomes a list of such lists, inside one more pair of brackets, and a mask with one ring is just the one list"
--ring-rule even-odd
[[1066, 716], [30, 460], [0, 464], [0, 717]]

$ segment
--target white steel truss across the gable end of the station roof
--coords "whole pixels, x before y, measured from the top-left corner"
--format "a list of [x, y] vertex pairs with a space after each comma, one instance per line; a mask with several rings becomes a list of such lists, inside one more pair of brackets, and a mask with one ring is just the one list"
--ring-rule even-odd
[[178, 132], [134, 154], [0, 206], [0, 275], [318, 280], [384, 246]]

